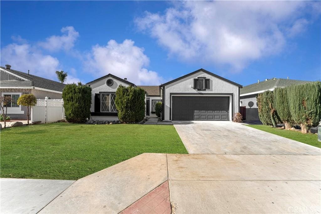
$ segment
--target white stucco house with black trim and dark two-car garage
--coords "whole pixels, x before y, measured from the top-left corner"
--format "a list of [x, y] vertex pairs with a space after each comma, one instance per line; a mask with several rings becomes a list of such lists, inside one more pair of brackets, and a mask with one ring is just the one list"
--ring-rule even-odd
[[164, 120], [232, 120], [233, 114], [239, 112], [242, 87], [204, 69], [160, 86], [136, 86], [112, 74], [86, 85], [92, 88], [92, 120], [118, 120], [115, 92], [119, 85], [145, 89], [149, 116], [155, 116], [155, 104], [162, 101]]

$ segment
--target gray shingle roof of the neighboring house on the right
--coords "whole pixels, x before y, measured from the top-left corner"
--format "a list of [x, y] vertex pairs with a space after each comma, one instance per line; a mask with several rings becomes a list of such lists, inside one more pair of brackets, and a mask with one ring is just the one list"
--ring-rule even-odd
[[289, 85], [300, 85], [305, 83], [310, 83], [311, 81], [305, 80], [293, 80], [293, 79], [281, 79], [281, 78], [272, 78], [265, 81], [254, 83], [251, 85], [244, 86], [240, 89], [240, 95], [247, 94], [257, 94], [262, 93], [266, 90], [271, 90], [277, 87], [286, 87]]

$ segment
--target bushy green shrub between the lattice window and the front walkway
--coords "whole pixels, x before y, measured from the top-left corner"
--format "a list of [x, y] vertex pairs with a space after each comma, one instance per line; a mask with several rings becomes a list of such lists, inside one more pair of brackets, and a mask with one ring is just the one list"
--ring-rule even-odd
[[121, 122], [140, 122], [145, 118], [145, 90], [142, 88], [119, 85], [115, 104]]

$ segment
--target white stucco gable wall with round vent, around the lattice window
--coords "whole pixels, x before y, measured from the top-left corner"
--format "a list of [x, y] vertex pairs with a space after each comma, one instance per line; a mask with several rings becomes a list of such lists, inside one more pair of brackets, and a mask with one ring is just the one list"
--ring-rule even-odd
[[[114, 81], [114, 84], [112, 86], [108, 86], [106, 84], [106, 81], [108, 79], [112, 79]], [[90, 85], [90, 87], [91, 87], [91, 106], [90, 106], [91, 112], [95, 111], [95, 108], [94, 108], [95, 94], [98, 94], [99, 92], [116, 92], [119, 85], [123, 85], [126, 87], [129, 86], [128, 84], [123, 83], [123, 82], [121, 82], [117, 79], [114, 79], [112, 77], [106, 77], [106, 78], [98, 80], [96, 82], [89, 83], [88, 85]], [[95, 117], [102, 118], [102, 116], [95, 116]], [[104, 117], [107, 117], [107, 116], [104, 116]], [[113, 118], [115, 118], [115, 117], [113, 117]], [[94, 120], [100, 120], [100, 119], [94, 119]], [[109, 120], [109, 119], [101, 119], [101, 120]], [[114, 119], [112, 119], [112, 120], [114, 120]], [[117, 120], [118, 120], [118, 117], [117, 117]]]

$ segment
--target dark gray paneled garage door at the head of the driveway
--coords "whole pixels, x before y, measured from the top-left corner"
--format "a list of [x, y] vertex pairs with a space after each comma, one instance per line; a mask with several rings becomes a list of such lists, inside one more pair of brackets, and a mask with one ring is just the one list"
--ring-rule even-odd
[[172, 120], [229, 120], [230, 97], [172, 96]]

